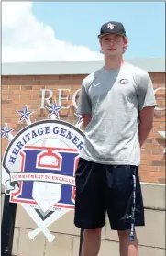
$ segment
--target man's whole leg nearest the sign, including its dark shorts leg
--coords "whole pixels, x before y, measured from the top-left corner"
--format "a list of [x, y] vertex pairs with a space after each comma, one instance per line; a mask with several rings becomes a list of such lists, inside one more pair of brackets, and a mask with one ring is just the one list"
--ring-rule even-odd
[[97, 256], [105, 226], [105, 173], [102, 165], [81, 159], [75, 173], [74, 224], [82, 228], [82, 256]]

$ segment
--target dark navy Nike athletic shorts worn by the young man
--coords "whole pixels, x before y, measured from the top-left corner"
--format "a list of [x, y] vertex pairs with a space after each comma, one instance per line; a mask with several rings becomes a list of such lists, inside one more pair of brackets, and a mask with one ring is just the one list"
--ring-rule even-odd
[[113, 230], [145, 225], [137, 166], [105, 165], [80, 158], [75, 182], [76, 227], [102, 228], [105, 213]]

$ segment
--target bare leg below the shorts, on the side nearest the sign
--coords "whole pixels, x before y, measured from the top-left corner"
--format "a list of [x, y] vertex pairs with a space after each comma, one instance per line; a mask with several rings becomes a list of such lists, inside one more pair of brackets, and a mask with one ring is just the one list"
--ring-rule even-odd
[[101, 243], [101, 230], [102, 228], [84, 230], [81, 256], [98, 255]]

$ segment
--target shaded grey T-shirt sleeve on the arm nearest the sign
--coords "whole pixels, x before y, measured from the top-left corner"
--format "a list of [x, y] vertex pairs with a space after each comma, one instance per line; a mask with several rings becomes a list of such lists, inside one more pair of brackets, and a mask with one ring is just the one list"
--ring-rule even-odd
[[77, 113], [79, 114], [91, 114], [91, 99], [86, 92], [85, 84], [82, 83], [81, 94], [79, 97]]

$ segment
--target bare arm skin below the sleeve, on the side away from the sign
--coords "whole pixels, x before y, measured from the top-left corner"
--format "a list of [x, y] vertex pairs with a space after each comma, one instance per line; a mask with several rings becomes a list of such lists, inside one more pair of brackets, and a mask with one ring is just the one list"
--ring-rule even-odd
[[153, 118], [154, 106], [147, 106], [139, 112], [138, 135], [140, 147], [143, 145], [143, 143], [149, 136], [149, 132], [153, 127]]

